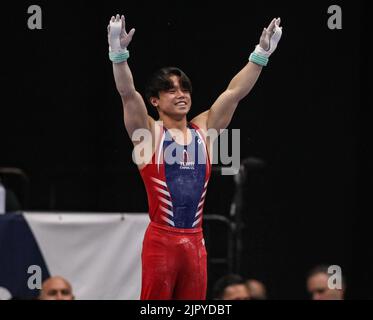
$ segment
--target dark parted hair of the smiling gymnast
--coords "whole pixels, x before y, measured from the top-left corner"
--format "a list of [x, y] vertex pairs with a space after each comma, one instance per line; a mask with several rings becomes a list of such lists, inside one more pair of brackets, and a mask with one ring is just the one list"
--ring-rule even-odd
[[192, 83], [182, 70], [176, 67], [165, 67], [154, 72], [147, 82], [145, 98], [148, 103], [150, 103], [151, 97], [159, 98], [160, 91], [173, 88], [173, 83], [170, 81], [172, 75], [180, 77], [181, 87], [192, 93]]

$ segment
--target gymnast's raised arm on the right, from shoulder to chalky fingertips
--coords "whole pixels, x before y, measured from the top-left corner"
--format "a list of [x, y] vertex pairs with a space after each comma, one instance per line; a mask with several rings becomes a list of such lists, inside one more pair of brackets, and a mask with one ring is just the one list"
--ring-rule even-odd
[[267, 28], [264, 28], [259, 44], [250, 55], [249, 62], [236, 74], [227, 89], [218, 97], [212, 107], [192, 120], [205, 129], [224, 129], [233, 116], [241, 99], [253, 88], [263, 66], [267, 65], [268, 57], [276, 49], [282, 35], [280, 18], [273, 19]]

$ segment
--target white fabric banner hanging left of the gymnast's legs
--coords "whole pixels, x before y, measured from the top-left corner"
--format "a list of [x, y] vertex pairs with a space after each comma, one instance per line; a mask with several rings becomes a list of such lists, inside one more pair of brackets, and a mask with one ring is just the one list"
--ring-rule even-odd
[[148, 214], [24, 213], [51, 276], [76, 299], [139, 299]]

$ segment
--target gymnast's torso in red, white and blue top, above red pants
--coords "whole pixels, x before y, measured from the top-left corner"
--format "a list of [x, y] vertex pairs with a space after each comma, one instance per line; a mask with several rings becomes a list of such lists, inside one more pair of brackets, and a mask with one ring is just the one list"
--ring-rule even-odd
[[156, 123], [151, 162], [139, 166], [150, 219], [178, 231], [201, 229], [211, 172], [204, 133], [193, 123], [188, 128], [189, 143], [182, 145]]

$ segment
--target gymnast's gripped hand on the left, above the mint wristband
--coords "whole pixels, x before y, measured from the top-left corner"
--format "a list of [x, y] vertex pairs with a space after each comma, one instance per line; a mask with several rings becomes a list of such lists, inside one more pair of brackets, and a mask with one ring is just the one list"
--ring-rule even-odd
[[130, 44], [135, 29], [132, 28], [130, 32], [126, 32], [126, 24], [124, 16], [119, 17], [117, 14], [115, 17], [112, 16], [107, 27], [108, 30], [108, 42], [109, 51], [111, 52], [123, 52], [126, 51]]

